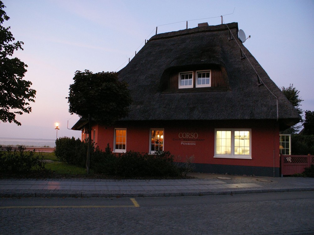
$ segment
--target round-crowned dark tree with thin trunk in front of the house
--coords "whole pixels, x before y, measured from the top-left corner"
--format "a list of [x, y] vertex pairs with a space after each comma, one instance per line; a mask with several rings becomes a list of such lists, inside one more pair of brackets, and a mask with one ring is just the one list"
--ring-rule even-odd
[[76, 71], [70, 85], [69, 112], [86, 118], [89, 123], [86, 170], [89, 173], [91, 121], [112, 125], [124, 118], [129, 112], [132, 100], [126, 82], [118, 80], [116, 72], [99, 72], [93, 74], [89, 70]]

